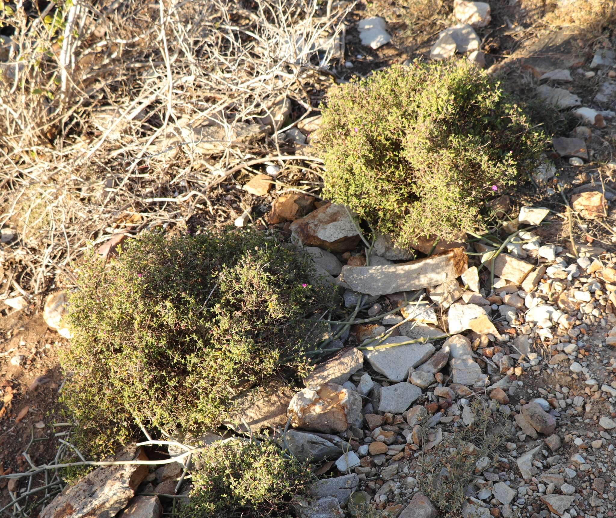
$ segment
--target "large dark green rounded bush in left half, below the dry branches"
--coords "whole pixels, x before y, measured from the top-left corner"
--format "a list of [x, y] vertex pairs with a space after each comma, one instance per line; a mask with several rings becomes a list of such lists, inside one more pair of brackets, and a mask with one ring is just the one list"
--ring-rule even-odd
[[81, 447], [106, 455], [140, 424], [203, 431], [246, 387], [306, 374], [308, 317], [336, 296], [312, 273], [306, 256], [251, 230], [148, 233], [107, 265], [84, 264], [61, 358]]

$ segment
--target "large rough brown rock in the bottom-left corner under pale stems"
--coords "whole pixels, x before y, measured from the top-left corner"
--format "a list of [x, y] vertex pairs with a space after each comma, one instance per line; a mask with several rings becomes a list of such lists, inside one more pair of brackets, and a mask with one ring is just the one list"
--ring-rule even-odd
[[[147, 460], [143, 450], [134, 457], [125, 453], [120, 460]], [[137, 486], [148, 474], [147, 466], [101, 466], [77, 484], [67, 486], [39, 518], [111, 518], [126, 507]]]

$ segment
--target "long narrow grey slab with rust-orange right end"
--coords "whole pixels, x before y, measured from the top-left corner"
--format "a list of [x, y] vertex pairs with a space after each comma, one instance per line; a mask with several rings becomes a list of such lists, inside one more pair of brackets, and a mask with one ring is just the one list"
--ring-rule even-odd
[[438, 286], [466, 272], [467, 257], [463, 248], [453, 248], [425, 259], [384, 266], [344, 266], [340, 280], [353, 291], [386, 295], [397, 291]]

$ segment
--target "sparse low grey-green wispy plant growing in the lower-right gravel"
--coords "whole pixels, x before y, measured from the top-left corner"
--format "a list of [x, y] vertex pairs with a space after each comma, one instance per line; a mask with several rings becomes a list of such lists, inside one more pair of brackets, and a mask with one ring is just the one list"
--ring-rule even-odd
[[[460, 509], [468, 500], [466, 489], [476, 479], [475, 464], [490, 459], [486, 469], [496, 464], [498, 448], [506, 437], [503, 419], [492, 415], [490, 409], [476, 400], [471, 405], [474, 422], [471, 426], [444, 433], [443, 440], [432, 450], [419, 456], [417, 480], [421, 492], [444, 518], [460, 516]], [[434, 430], [424, 427], [424, 437]]]

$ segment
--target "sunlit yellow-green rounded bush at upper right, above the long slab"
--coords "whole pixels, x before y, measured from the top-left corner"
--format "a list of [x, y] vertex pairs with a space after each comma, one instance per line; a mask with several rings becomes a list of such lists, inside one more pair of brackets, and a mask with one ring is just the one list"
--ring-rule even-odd
[[533, 171], [546, 137], [471, 63], [414, 62], [333, 89], [317, 140], [323, 195], [410, 246], [481, 227], [483, 202]]

